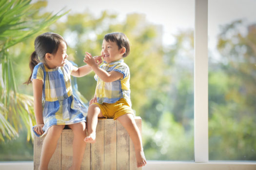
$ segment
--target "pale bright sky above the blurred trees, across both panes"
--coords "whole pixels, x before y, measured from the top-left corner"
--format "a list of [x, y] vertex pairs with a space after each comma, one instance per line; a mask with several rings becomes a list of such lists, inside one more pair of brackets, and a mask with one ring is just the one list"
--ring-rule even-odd
[[[32, 0], [35, 2], [37, 0]], [[194, 29], [195, 0], [48, 0], [46, 11], [57, 13], [63, 7], [70, 13], [89, 11], [95, 16], [108, 10], [122, 20], [127, 14], [145, 14], [146, 19], [163, 26], [163, 44], [174, 42], [179, 30]], [[256, 0], [208, 0], [208, 46], [214, 49], [220, 25], [236, 19], [256, 23]]]

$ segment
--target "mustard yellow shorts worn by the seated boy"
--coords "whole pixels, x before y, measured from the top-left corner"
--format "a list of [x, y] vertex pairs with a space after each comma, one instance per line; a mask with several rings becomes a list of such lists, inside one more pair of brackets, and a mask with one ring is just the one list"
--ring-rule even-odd
[[128, 105], [124, 98], [120, 98], [116, 103], [93, 103], [98, 105], [102, 115], [105, 118], [113, 118], [116, 120], [121, 115], [132, 113], [134, 114], [132, 108]]

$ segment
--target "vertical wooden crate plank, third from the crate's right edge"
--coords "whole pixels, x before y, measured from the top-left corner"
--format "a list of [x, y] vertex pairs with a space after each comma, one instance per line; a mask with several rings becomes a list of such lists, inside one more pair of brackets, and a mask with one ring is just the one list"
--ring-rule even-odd
[[104, 170], [117, 170], [117, 121], [104, 119]]

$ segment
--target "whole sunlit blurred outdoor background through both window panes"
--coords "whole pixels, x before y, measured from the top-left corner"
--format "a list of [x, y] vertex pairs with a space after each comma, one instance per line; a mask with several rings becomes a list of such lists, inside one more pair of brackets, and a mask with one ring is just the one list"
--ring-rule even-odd
[[[148, 160], [194, 161], [194, 0], [49, 0], [33, 9], [70, 10], [43, 32], [67, 43], [69, 59], [83, 65], [84, 52], [98, 55], [102, 38], [123, 32], [131, 42], [125, 62], [131, 72], [133, 109], [142, 118]], [[46, 14], [47, 13], [47, 14]], [[36, 36], [37, 36], [36, 35]], [[8, 50], [21, 94], [30, 74], [34, 39]], [[256, 1], [208, 0], [209, 159], [256, 161]], [[90, 100], [94, 74], [77, 79]], [[21, 126], [20, 126], [21, 125]], [[22, 122], [19, 137], [0, 140], [0, 161], [33, 160], [33, 142]]]

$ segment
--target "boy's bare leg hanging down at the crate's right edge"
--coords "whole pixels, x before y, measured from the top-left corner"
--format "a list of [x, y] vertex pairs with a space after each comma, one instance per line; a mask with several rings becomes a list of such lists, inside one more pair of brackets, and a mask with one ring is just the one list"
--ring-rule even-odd
[[129, 133], [129, 136], [133, 141], [135, 154], [136, 154], [137, 167], [145, 166], [147, 164], [147, 161], [144, 155], [142, 140], [138, 130], [138, 126], [134, 119], [134, 115], [131, 113], [128, 113], [128, 114], [121, 115], [117, 119], [126, 129], [126, 131]]

